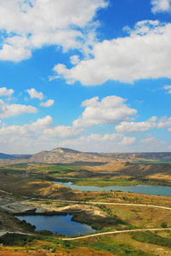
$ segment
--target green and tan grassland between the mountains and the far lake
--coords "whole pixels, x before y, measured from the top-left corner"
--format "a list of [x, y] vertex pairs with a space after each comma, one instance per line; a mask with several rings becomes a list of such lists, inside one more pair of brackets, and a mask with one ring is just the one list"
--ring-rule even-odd
[[0, 167], [0, 173], [27, 175], [46, 181], [77, 185], [128, 186], [151, 184], [171, 186], [171, 165], [112, 162], [103, 166], [19, 164]]

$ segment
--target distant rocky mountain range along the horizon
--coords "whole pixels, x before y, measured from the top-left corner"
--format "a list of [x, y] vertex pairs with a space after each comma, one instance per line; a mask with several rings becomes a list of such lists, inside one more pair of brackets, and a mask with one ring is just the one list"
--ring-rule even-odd
[[111, 161], [134, 161], [134, 160], [171, 160], [171, 152], [154, 153], [93, 153], [80, 152], [70, 148], [54, 148], [50, 151], [41, 151], [37, 154], [0, 154], [2, 160], [30, 163], [61, 163], [79, 164], [84, 163], [103, 164]]

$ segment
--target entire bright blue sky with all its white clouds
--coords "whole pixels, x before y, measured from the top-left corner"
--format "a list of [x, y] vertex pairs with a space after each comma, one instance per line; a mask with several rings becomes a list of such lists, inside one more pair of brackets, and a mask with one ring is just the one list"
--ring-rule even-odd
[[170, 0], [1, 0], [0, 152], [171, 149]]

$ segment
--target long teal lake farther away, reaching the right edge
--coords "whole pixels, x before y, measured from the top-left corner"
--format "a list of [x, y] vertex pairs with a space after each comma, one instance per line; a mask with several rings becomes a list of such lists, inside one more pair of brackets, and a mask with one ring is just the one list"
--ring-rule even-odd
[[71, 189], [79, 189], [80, 191], [113, 191], [121, 190], [123, 192], [133, 192], [146, 195], [163, 195], [171, 196], [171, 187], [168, 186], [151, 186], [151, 185], [136, 185], [136, 186], [105, 186], [105, 187], [96, 187], [96, 186], [78, 186], [73, 183], [60, 183], [54, 182], [56, 184], [61, 184]]

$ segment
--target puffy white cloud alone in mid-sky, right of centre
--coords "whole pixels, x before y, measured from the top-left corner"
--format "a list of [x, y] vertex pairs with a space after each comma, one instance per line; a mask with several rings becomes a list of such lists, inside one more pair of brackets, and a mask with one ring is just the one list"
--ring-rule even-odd
[[74, 127], [117, 125], [137, 113], [136, 109], [129, 108], [125, 102], [126, 100], [119, 96], [107, 96], [101, 102], [98, 96], [86, 100], [82, 103], [82, 107], [85, 107], [82, 116], [72, 124]]

